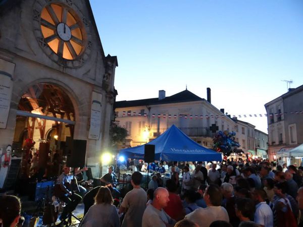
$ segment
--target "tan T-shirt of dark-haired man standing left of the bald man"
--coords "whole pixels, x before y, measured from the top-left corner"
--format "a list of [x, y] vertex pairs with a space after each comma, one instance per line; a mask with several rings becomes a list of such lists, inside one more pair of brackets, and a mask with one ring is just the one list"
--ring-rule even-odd
[[134, 188], [125, 195], [121, 206], [127, 208], [127, 212], [123, 219], [122, 227], [141, 226], [146, 200], [147, 195], [142, 188]]

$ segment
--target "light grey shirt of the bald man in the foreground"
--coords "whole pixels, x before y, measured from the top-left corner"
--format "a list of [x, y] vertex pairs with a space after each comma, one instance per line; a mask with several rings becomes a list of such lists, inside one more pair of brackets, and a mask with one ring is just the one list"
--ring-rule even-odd
[[153, 204], [150, 204], [144, 211], [142, 227], [166, 227], [165, 223], [174, 224], [175, 222], [176, 221], [172, 219], [163, 209], [158, 210], [153, 206]]

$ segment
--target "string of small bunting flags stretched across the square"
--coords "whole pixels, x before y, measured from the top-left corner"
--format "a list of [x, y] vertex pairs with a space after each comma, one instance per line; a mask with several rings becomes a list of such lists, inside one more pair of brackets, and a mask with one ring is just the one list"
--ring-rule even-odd
[[[276, 117], [282, 117], [282, 116], [286, 116], [286, 115], [300, 115], [303, 114], [303, 110], [300, 111], [291, 111], [291, 112], [275, 112], [275, 113], [254, 113], [254, 114], [242, 114], [242, 115], [229, 115], [231, 118], [263, 118], [263, 117], [270, 117], [273, 118], [274, 116]], [[122, 117], [147, 117], [147, 113], [141, 113], [141, 112], [131, 112], [131, 111], [122, 111]], [[179, 118], [184, 118], [184, 119], [210, 119], [210, 118], [225, 118], [227, 117], [226, 115], [191, 115], [191, 114], [187, 114], [187, 115], [172, 115], [172, 114], [168, 114], [168, 113], [151, 113], [150, 115], [152, 118], [155, 118], [156, 116], [158, 116], [158, 118], [174, 118], [176, 119], [178, 116]]]

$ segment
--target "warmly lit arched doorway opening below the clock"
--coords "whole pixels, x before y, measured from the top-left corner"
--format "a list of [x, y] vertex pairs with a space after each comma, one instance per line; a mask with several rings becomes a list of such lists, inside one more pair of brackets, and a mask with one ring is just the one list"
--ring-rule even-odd
[[67, 138], [73, 138], [75, 110], [64, 88], [37, 83], [22, 95], [17, 110], [13, 142], [22, 157], [22, 178], [58, 176], [66, 161]]

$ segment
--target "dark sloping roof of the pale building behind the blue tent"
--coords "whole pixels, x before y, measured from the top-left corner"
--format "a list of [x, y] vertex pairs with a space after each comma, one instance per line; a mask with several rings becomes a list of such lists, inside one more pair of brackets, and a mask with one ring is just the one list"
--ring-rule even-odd
[[166, 103], [178, 103], [178, 102], [192, 102], [192, 101], [201, 101], [205, 100], [204, 98], [200, 98], [189, 90], [181, 91], [172, 96], [165, 97], [161, 100], [159, 98], [147, 98], [147, 99], [138, 99], [131, 101], [117, 101], [115, 107], [131, 107], [131, 106], [143, 106], [143, 105], [158, 105], [158, 104], [166, 104]]

